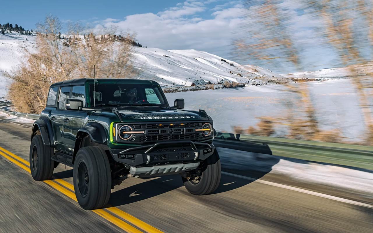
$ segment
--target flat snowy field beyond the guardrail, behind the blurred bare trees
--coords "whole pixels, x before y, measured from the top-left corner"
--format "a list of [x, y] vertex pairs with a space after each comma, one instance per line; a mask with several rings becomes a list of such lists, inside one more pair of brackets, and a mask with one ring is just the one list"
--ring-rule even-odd
[[[360, 141], [364, 132], [357, 94], [350, 79], [307, 82], [317, 110], [320, 128], [339, 129], [348, 141]], [[297, 96], [282, 85], [247, 86], [167, 93], [167, 100], [184, 98], [185, 109], [206, 110], [214, 120], [217, 131], [233, 132], [233, 126], [247, 129], [255, 126], [258, 117], [286, 117], [286, 103]], [[277, 136], [286, 132], [277, 129]]]

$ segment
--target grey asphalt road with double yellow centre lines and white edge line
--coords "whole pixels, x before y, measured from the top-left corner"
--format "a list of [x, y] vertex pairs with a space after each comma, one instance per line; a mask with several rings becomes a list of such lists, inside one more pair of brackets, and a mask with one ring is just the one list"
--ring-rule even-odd
[[[0, 119], [3, 119], [0, 117]], [[28, 170], [31, 128], [0, 120], [0, 232], [372, 232], [372, 199], [289, 177], [225, 169], [211, 195], [194, 196], [179, 176], [130, 178], [106, 209], [74, 200], [72, 169], [36, 182]], [[264, 175], [264, 176], [263, 176]], [[295, 187], [295, 188], [292, 188]], [[367, 204], [369, 206], [364, 206]]]

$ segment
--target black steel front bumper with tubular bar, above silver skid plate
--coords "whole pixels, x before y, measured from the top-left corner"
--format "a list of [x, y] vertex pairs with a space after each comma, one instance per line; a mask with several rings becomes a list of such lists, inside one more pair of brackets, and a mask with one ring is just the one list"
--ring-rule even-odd
[[213, 144], [204, 142], [164, 141], [126, 149], [110, 149], [114, 160], [130, 167], [153, 167], [197, 163], [213, 154]]

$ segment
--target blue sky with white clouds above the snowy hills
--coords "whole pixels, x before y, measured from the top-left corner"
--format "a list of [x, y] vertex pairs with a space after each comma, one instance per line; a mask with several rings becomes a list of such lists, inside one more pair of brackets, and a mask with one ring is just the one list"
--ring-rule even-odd
[[[335, 54], [330, 48], [320, 46], [314, 35], [314, 28], [322, 22], [307, 18], [300, 2], [277, 1], [284, 12], [291, 15], [289, 23], [296, 32], [292, 37], [302, 47], [301, 55], [305, 58], [303, 69], [333, 67]], [[251, 0], [250, 8], [245, 8], [243, 0], [3, 1], [0, 23], [17, 23], [25, 29], [34, 29], [37, 22], [51, 14], [65, 24], [64, 28], [69, 22], [80, 21], [98, 33], [135, 33], [136, 40], [147, 47], [196, 49], [274, 72], [296, 71], [281, 59], [269, 62], [251, 57], [238, 59], [232, 54], [233, 40], [250, 36], [241, 26], [245, 14], [256, 14], [258, 3], [260, 0]], [[255, 24], [250, 26], [256, 27]]]

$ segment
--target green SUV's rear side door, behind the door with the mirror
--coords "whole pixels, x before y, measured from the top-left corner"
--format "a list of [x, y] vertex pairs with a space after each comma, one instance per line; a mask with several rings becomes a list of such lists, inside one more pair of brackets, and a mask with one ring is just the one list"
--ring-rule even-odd
[[58, 151], [66, 151], [63, 145], [63, 120], [66, 113], [66, 99], [70, 97], [71, 86], [60, 88], [56, 110], [51, 112], [54, 140]]

